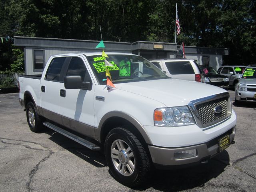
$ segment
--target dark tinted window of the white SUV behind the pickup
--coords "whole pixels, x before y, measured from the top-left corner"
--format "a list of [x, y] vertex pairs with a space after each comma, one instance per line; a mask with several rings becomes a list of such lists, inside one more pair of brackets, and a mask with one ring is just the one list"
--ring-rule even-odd
[[172, 75], [195, 74], [189, 61], [165, 62], [165, 64]]

